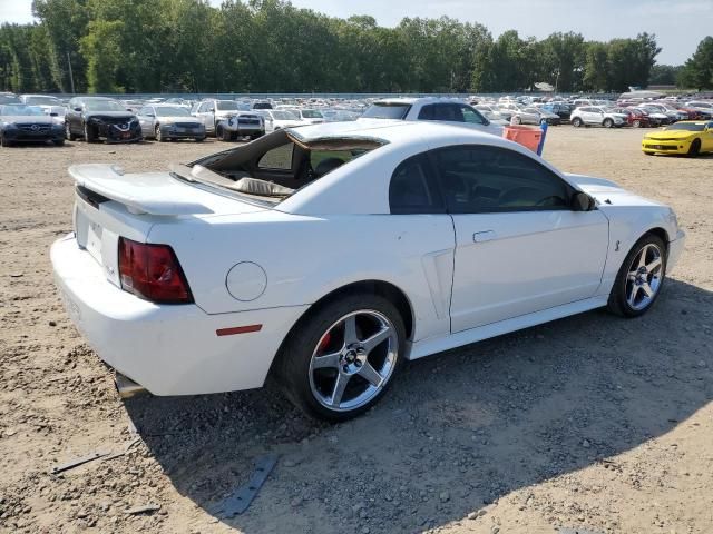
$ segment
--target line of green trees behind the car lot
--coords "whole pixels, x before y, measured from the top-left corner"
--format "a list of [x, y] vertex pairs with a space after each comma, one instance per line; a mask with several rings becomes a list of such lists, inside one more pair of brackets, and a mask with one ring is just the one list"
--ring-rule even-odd
[[384, 28], [283, 0], [35, 0], [32, 10], [39, 22], [0, 27], [2, 90], [506, 92], [548, 82], [618, 92], [646, 86], [661, 51], [648, 33], [496, 39], [449, 17]]

